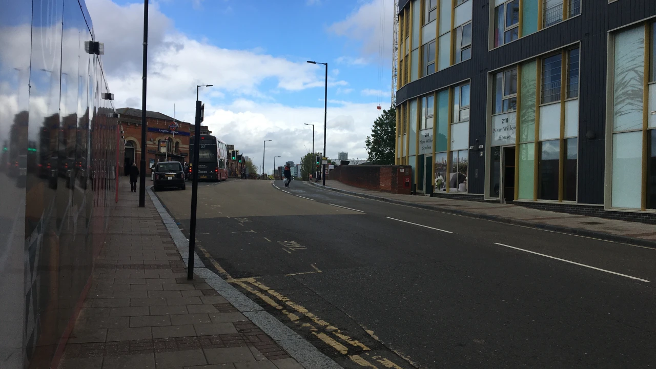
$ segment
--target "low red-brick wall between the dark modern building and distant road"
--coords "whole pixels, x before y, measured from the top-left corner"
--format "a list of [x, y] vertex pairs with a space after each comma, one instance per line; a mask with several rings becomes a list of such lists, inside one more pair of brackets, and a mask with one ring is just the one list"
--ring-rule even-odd
[[338, 165], [327, 179], [367, 190], [410, 194], [411, 186], [409, 182], [406, 186], [405, 180], [411, 175], [409, 165]]

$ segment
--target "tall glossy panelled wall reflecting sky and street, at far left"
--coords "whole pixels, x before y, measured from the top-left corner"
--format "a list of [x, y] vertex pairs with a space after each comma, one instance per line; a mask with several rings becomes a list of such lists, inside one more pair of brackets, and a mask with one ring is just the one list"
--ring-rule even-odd
[[83, 1], [0, 7], [0, 368], [49, 368], [114, 204], [117, 123]]

